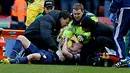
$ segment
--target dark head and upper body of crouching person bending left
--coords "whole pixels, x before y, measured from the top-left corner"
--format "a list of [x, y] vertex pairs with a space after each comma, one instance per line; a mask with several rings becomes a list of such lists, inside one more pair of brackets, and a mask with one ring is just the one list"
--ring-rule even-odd
[[86, 28], [91, 32], [92, 37], [105, 36], [108, 38], [113, 38], [113, 27], [103, 24], [101, 22], [95, 22], [89, 17], [84, 17], [81, 21], [81, 27]]

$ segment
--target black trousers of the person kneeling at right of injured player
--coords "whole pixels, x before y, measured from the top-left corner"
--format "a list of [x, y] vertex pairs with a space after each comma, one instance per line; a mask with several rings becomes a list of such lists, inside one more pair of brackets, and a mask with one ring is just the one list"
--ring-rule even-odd
[[91, 39], [84, 45], [80, 53], [80, 65], [92, 65], [96, 52], [105, 52], [105, 47], [114, 49], [114, 41], [108, 37], [99, 36], [95, 40]]

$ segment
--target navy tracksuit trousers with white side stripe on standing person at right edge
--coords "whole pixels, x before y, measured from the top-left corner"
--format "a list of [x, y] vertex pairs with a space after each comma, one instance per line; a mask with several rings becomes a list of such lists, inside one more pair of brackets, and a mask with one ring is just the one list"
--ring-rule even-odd
[[118, 24], [115, 24], [114, 27], [114, 41], [116, 45], [116, 55], [119, 58], [125, 58], [125, 48], [127, 48], [127, 46], [123, 37], [126, 36], [128, 30], [130, 30], [130, 9], [129, 7], [125, 7], [119, 11]]

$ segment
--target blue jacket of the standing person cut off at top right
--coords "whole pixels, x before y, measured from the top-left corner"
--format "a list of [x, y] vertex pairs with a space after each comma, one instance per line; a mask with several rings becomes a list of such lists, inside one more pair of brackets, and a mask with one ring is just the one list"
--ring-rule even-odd
[[112, 0], [109, 11], [111, 13], [116, 13], [123, 7], [130, 7], [130, 0]]

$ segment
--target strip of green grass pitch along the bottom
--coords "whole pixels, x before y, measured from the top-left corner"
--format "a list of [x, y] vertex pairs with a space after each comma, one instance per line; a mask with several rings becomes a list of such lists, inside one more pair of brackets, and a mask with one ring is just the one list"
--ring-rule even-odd
[[0, 73], [130, 73], [130, 69], [71, 65], [0, 64]]

